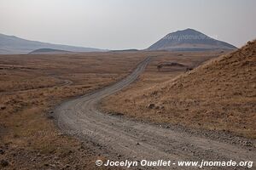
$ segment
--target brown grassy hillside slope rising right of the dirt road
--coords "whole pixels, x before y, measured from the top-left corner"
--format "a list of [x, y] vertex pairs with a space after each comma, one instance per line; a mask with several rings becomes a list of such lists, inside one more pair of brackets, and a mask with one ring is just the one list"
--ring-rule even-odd
[[256, 41], [171, 81], [116, 94], [108, 104], [143, 120], [256, 138]]

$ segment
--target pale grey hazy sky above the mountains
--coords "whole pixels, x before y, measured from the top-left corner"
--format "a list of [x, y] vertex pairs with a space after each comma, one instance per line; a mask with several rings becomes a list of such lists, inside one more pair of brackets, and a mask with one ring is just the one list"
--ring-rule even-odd
[[240, 47], [256, 38], [255, 7], [255, 0], [0, 0], [0, 33], [121, 49], [193, 28]]

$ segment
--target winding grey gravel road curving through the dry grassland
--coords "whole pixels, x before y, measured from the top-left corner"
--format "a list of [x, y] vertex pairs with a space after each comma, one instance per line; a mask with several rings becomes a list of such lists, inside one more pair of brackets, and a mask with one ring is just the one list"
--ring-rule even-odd
[[[162, 159], [173, 162], [256, 161], [256, 152], [253, 147], [229, 144], [168, 127], [136, 122], [123, 116], [109, 116], [97, 110], [97, 104], [102, 98], [135, 81], [150, 59], [150, 57], [144, 59], [125, 79], [58, 106], [54, 112], [61, 130], [95, 144], [96, 150], [115, 161], [126, 159], [130, 161]], [[148, 168], [152, 169], [152, 167]], [[177, 165], [168, 167], [168, 169], [184, 168]], [[196, 169], [196, 167], [186, 167], [186, 169], [189, 168]], [[236, 169], [240, 168], [245, 169], [245, 167], [236, 167]]]

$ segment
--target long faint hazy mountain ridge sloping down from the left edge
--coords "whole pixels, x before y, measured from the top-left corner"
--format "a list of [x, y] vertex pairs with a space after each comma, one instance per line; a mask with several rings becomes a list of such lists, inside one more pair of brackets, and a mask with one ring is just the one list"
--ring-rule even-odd
[[0, 54], [28, 54], [39, 48], [53, 48], [70, 52], [101, 52], [107, 51], [98, 48], [84, 48], [69, 45], [54, 44], [26, 40], [20, 37], [0, 34]]

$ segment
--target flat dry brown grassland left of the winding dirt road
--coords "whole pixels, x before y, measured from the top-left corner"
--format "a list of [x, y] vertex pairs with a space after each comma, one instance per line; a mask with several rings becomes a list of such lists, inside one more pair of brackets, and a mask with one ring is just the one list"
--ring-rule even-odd
[[[7, 169], [95, 169], [90, 144], [60, 135], [48, 112], [64, 99], [102, 88], [148, 54], [0, 56], [0, 160]], [[2, 168], [2, 167], [1, 167]]]

